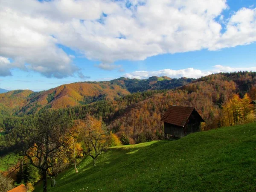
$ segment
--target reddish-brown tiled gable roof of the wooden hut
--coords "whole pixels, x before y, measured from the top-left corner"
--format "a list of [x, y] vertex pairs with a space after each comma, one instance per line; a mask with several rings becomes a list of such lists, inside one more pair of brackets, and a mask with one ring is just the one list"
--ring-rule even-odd
[[[177, 125], [180, 127], [184, 127], [187, 120], [189, 119], [189, 116], [191, 113], [195, 110], [195, 108], [191, 107], [181, 107], [181, 106], [170, 106], [169, 109], [164, 113], [161, 121], [167, 122], [173, 125]], [[196, 113], [198, 113], [195, 110]], [[198, 113], [200, 116], [200, 114]], [[204, 122], [204, 119], [200, 116], [201, 122]]]

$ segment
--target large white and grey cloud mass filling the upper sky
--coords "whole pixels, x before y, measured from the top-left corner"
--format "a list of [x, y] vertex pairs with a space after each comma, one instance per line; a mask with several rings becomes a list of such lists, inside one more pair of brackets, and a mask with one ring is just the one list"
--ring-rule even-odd
[[255, 42], [256, 9], [223, 18], [225, 9], [226, 0], [0, 0], [0, 55], [11, 68], [63, 78], [79, 68], [58, 45], [113, 70], [118, 60]]

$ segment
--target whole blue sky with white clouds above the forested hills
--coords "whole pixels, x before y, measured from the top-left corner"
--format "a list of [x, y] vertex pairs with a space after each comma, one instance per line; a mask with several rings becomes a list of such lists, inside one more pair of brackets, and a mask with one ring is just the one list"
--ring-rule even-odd
[[256, 71], [255, 0], [0, 0], [0, 88]]

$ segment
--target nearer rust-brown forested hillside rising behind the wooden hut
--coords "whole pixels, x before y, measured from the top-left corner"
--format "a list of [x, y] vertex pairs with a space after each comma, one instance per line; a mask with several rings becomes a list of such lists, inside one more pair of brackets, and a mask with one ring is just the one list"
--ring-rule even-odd
[[[236, 94], [241, 99], [245, 99], [246, 93], [253, 98], [256, 95], [255, 85], [256, 72], [218, 73], [174, 90], [133, 93], [115, 101], [95, 102], [64, 110], [63, 113], [72, 115], [74, 119], [84, 119], [90, 112], [102, 117], [119, 137], [124, 133], [130, 138], [131, 144], [143, 143], [162, 139], [163, 122], [160, 119], [169, 105], [195, 107], [206, 121], [202, 125], [204, 130], [234, 125], [235, 122], [230, 124], [227, 121], [224, 105], [231, 102]], [[250, 97], [247, 99], [250, 100]], [[252, 106], [245, 100], [250, 111]], [[250, 122], [253, 116], [248, 113], [242, 118], [242, 114], [239, 114], [239, 119], [244, 123]]]

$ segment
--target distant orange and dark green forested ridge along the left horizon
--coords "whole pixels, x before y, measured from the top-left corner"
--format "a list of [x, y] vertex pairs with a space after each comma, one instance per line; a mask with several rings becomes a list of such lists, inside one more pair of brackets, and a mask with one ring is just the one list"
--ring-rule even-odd
[[[64, 84], [50, 90], [34, 92], [15, 90], [0, 94], [0, 110], [5, 114], [34, 114], [41, 108], [69, 108], [92, 102], [121, 98], [130, 93], [145, 90], [172, 89], [195, 79], [171, 79], [153, 76], [149, 79], [119, 78], [112, 81], [87, 81]], [[18, 93], [18, 94], [17, 94]]]

